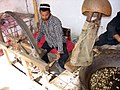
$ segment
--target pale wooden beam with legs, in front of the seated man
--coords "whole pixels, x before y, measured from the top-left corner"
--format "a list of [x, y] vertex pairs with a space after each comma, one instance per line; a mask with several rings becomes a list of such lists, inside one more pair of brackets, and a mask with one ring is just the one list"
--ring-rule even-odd
[[0, 41], [0, 47], [3, 49], [4, 54], [9, 62], [9, 64], [11, 65], [11, 59], [9, 57], [9, 53], [13, 53], [14, 55], [20, 57], [21, 59], [23, 59], [26, 63], [26, 67], [27, 67], [27, 71], [26, 74], [27, 76], [29, 76], [30, 79], [32, 79], [32, 73], [30, 68], [28, 67], [29, 63], [32, 63], [33, 65], [37, 66], [42, 72], [45, 72], [46, 70], [46, 66], [48, 64], [46, 64], [43, 60], [38, 60], [30, 55], [27, 55], [24, 52], [20, 52], [18, 50], [14, 50], [12, 47], [7, 47], [6, 44], [4, 42]]

